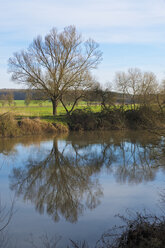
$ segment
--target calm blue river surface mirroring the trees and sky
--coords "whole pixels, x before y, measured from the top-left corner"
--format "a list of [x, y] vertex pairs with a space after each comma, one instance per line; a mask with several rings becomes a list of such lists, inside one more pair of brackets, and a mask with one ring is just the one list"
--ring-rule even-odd
[[[61, 237], [94, 244], [115, 214], [165, 210], [165, 140], [145, 132], [71, 133], [0, 140], [1, 205], [14, 215], [10, 247]], [[0, 223], [1, 224], [1, 223]]]

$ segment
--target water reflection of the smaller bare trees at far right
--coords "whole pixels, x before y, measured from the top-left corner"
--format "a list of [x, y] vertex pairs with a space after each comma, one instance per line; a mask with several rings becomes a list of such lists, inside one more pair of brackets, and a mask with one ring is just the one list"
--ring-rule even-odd
[[130, 137], [130, 141], [124, 139], [120, 142], [120, 159], [113, 170], [117, 181], [141, 183], [154, 180], [157, 169], [164, 166], [161, 138], [143, 134]]

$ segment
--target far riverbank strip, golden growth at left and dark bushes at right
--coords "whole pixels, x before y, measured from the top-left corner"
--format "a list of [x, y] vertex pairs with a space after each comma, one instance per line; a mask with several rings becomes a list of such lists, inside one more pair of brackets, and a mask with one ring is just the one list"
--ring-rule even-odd
[[[0, 115], [0, 137], [62, 133], [69, 130], [165, 130], [165, 116], [155, 108], [137, 106], [136, 109], [131, 109], [130, 106], [127, 108], [116, 106], [98, 110], [97, 107], [79, 105], [72, 114], [58, 114], [55, 117], [47, 112], [37, 116], [35, 113], [33, 115], [28, 115], [27, 112], [18, 114], [12, 108], [6, 109], [6, 112], [1, 112]], [[46, 108], [48, 111], [51, 106], [31, 108]]]

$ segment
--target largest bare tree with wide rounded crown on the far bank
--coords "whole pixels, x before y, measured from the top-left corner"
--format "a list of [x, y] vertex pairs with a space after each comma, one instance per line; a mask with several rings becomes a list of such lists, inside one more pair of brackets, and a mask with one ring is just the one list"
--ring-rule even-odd
[[74, 26], [62, 32], [53, 28], [44, 40], [38, 36], [25, 51], [9, 59], [12, 80], [44, 92], [56, 115], [58, 102], [64, 93], [75, 87], [86, 88], [91, 83], [91, 70], [100, 63], [102, 53], [98, 44], [83, 42]]

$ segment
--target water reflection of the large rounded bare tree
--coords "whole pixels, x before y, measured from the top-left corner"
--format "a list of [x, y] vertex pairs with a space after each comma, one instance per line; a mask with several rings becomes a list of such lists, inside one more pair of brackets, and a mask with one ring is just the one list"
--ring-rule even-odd
[[80, 166], [81, 156], [65, 156], [64, 152], [65, 148], [59, 151], [55, 139], [51, 152], [42, 161], [29, 160], [24, 168], [13, 170], [11, 189], [17, 195], [23, 194], [24, 200], [31, 200], [40, 213], [46, 208], [54, 221], [63, 216], [76, 222], [85, 207], [94, 209], [100, 203], [101, 186], [92, 177], [100, 168], [90, 161]]

